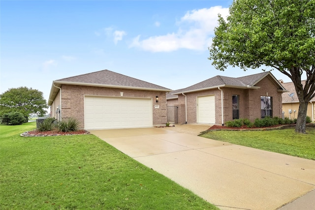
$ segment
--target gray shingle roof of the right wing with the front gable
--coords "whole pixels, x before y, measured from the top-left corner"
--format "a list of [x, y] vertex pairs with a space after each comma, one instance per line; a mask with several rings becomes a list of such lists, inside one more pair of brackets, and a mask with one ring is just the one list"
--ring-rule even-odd
[[255, 86], [259, 81], [265, 77], [270, 77], [274, 84], [278, 87], [279, 91], [286, 91], [284, 87], [279, 83], [279, 81], [271, 74], [270, 71], [262, 72], [258, 74], [252, 74], [244, 77], [225, 77], [225, 76], [215, 76], [188, 88], [181, 89], [179, 91], [174, 91], [172, 94], [181, 94], [187, 92], [196, 92], [201, 90], [210, 90], [217, 88], [239, 88], [239, 89], [259, 89], [260, 87]]

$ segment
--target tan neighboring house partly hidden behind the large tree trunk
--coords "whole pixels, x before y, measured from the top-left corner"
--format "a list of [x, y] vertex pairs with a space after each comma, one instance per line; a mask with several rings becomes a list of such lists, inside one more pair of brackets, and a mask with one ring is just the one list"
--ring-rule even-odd
[[[305, 86], [305, 80], [301, 81], [302, 85]], [[289, 119], [296, 119], [299, 112], [299, 98], [297, 97], [293, 82], [284, 83], [280, 81], [281, 85], [288, 90], [282, 94], [282, 110], [284, 117]], [[315, 98], [313, 98], [307, 107], [307, 116], [311, 117], [311, 120], [315, 119]]]

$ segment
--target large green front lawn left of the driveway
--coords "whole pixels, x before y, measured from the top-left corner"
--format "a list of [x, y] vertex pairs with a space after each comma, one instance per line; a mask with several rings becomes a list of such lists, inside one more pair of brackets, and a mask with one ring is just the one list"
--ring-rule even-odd
[[217, 210], [94, 135], [20, 137], [0, 125], [0, 207], [41, 210]]

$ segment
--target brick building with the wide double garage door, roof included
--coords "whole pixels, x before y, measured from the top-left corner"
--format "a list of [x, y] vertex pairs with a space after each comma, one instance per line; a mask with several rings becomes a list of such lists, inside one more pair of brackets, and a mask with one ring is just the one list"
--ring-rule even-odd
[[52, 117], [75, 118], [82, 129], [152, 127], [167, 121], [169, 91], [102, 70], [53, 81], [48, 105]]

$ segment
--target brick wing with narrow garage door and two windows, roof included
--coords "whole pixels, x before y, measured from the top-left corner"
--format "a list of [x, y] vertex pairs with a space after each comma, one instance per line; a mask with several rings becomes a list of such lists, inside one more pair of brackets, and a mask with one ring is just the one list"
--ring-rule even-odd
[[270, 73], [245, 77], [215, 76], [188, 88], [175, 90], [167, 104], [178, 106], [178, 123], [213, 123], [247, 118], [282, 117], [286, 90]]

